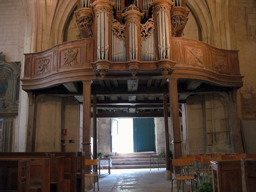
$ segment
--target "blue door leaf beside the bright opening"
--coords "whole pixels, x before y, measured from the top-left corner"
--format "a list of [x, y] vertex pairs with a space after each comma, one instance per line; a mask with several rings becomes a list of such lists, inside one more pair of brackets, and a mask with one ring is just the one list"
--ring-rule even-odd
[[134, 152], [155, 151], [154, 118], [133, 119]]

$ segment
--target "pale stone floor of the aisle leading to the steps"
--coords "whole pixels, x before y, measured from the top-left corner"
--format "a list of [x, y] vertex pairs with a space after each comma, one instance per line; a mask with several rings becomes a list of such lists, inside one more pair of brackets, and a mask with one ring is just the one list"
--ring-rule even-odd
[[[101, 171], [99, 191], [101, 192], [171, 192], [172, 181], [165, 180], [165, 168], [159, 169], [111, 169]], [[175, 184], [176, 186], [176, 184]], [[190, 184], [186, 190], [190, 191]], [[93, 189], [85, 190], [93, 192]], [[95, 192], [98, 191], [95, 183]], [[181, 190], [182, 191], [182, 186]], [[177, 192], [176, 187], [173, 192]]]

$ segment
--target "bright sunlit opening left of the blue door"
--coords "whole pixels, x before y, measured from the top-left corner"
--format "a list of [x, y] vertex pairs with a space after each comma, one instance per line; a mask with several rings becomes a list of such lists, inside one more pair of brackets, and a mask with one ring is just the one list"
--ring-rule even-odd
[[112, 127], [112, 152], [131, 153], [133, 152], [133, 119], [117, 118], [116, 120], [117, 127]]

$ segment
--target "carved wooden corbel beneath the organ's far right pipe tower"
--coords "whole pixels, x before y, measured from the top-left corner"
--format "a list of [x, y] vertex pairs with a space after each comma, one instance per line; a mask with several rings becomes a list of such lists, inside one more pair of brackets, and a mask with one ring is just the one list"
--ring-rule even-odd
[[185, 7], [172, 8], [172, 36], [180, 37], [188, 21], [189, 10]]

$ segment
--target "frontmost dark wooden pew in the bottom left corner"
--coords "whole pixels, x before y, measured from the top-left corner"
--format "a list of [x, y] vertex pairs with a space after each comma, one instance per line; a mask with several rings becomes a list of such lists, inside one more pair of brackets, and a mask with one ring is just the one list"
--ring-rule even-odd
[[30, 159], [0, 158], [0, 192], [29, 192]]

